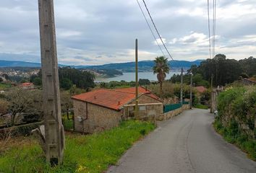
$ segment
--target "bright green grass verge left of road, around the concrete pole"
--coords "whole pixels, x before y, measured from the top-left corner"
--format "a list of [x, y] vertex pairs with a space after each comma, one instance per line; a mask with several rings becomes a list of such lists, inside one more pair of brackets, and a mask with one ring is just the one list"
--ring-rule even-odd
[[64, 162], [56, 167], [46, 164], [35, 139], [15, 140], [8, 149], [0, 151], [0, 172], [103, 172], [116, 164], [135, 141], [154, 128], [152, 123], [129, 120], [117, 128], [90, 136], [69, 134], [66, 136]]

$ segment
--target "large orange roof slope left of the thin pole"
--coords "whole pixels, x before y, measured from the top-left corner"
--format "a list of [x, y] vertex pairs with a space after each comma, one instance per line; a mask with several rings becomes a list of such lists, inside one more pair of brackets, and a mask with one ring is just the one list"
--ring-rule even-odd
[[135, 94], [111, 89], [96, 89], [92, 92], [75, 95], [72, 99], [90, 102], [113, 110], [120, 110], [127, 102], [135, 99]]

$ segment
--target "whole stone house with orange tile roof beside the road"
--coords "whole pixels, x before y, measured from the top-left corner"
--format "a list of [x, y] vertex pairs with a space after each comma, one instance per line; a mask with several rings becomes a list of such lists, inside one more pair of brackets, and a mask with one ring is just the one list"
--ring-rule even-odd
[[[77, 94], [74, 102], [74, 130], [94, 133], [119, 125], [134, 116], [135, 87], [126, 89], [95, 89]], [[148, 89], [139, 87], [139, 112], [143, 118], [163, 113], [163, 103]]]

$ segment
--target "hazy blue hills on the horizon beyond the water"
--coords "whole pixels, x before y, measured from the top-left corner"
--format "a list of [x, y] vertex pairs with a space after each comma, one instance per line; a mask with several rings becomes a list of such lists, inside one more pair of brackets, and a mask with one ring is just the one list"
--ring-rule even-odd
[[[169, 61], [171, 71], [179, 71], [180, 68], [188, 69], [192, 65], [199, 66], [203, 60], [196, 61]], [[40, 67], [40, 63], [30, 63], [24, 61], [4, 61], [0, 60], [0, 67]], [[59, 66], [64, 66], [60, 65]], [[139, 61], [138, 67], [139, 71], [152, 71], [154, 66], [154, 61]], [[127, 63], [108, 63], [101, 66], [71, 66], [74, 68], [82, 69], [115, 69], [122, 72], [134, 72], [135, 71], [135, 62]]]

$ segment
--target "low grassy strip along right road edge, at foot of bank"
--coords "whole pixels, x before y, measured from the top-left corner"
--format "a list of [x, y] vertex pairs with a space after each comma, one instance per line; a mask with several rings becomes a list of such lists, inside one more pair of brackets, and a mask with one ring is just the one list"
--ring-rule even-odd
[[[242, 151], [248, 154], [248, 157], [254, 161], [256, 161], [256, 140], [252, 138], [248, 138], [247, 135], [236, 132], [236, 130], [232, 128], [225, 128], [221, 124], [219, 120], [215, 120], [213, 123], [213, 127], [216, 131], [223, 136], [225, 141], [229, 143], [234, 143], [236, 146], [242, 149]], [[235, 133], [234, 133], [235, 132]]]

